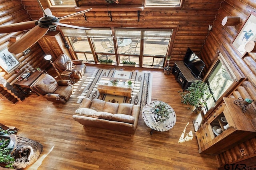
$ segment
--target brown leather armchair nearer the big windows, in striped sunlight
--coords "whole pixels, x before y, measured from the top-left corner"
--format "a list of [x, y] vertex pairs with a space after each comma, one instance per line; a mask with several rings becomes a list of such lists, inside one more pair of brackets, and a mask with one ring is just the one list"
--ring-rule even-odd
[[74, 78], [80, 79], [85, 72], [86, 66], [82, 60], [71, 60], [67, 55], [62, 54], [54, 61], [54, 65], [60, 72], [70, 71]]

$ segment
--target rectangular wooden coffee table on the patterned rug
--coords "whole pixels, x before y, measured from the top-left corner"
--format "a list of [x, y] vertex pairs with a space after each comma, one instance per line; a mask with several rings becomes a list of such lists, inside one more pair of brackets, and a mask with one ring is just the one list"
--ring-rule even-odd
[[[112, 79], [118, 79], [119, 82], [116, 86], [114, 86], [110, 80]], [[127, 82], [132, 81], [132, 86], [128, 87]], [[131, 93], [134, 87], [134, 79], [126, 79], [126, 78], [114, 78], [114, 77], [105, 77], [103, 76], [99, 84], [97, 86], [97, 89], [99, 90], [100, 94], [111, 94], [116, 96], [126, 96], [128, 98], [131, 98]]]

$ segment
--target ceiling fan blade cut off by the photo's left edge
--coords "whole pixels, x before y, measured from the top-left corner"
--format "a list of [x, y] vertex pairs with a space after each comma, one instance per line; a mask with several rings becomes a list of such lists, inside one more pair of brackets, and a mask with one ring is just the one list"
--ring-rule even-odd
[[0, 26], [0, 33], [10, 33], [10, 32], [17, 32], [17, 31], [25, 31], [28, 29], [32, 29], [37, 25], [38, 21], [25, 21], [19, 23], [12, 23], [9, 25], [1, 25]]

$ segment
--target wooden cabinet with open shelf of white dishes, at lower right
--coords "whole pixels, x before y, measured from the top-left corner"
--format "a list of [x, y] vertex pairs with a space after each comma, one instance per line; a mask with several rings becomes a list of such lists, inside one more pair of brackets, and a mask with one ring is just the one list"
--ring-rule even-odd
[[196, 132], [202, 154], [220, 154], [256, 136], [256, 129], [246, 116], [253, 109], [243, 113], [242, 108], [234, 104], [234, 99], [223, 100], [224, 104]]

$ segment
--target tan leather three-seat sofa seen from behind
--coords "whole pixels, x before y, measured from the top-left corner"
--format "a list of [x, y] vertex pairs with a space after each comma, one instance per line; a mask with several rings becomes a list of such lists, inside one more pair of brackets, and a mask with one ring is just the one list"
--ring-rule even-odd
[[134, 134], [140, 115], [140, 106], [116, 104], [84, 98], [73, 119], [84, 126], [98, 127]]

